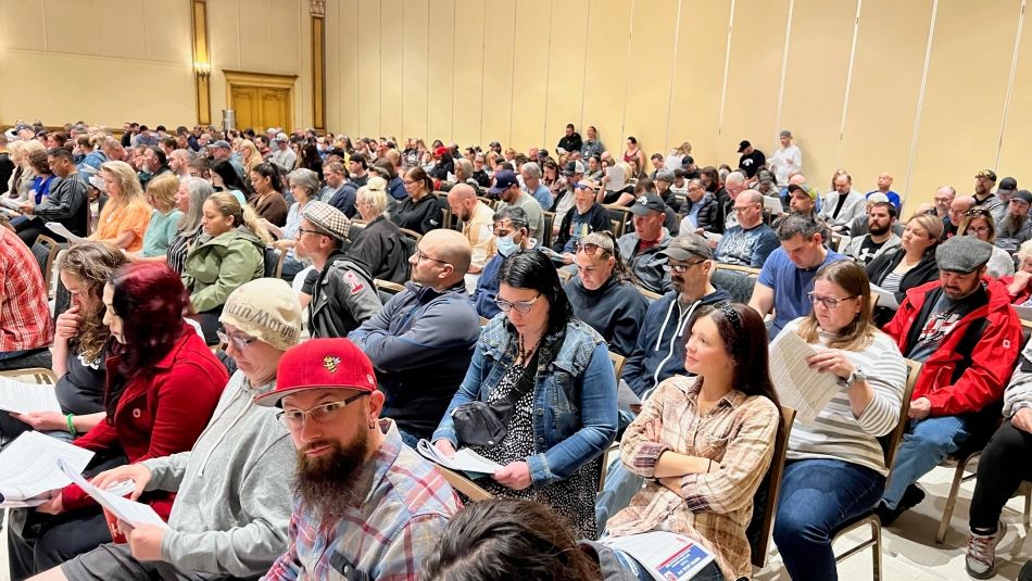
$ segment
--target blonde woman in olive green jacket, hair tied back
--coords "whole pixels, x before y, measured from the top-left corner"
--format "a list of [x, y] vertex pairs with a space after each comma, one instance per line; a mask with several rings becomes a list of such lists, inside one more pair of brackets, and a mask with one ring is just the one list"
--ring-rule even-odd
[[273, 239], [254, 210], [231, 193], [213, 193], [203, 204], [204, 235], [187, 254], [183, 283], [209, 344], [218, 342], [218, 316], [229, 293], [265, 275], [265, 249]]

